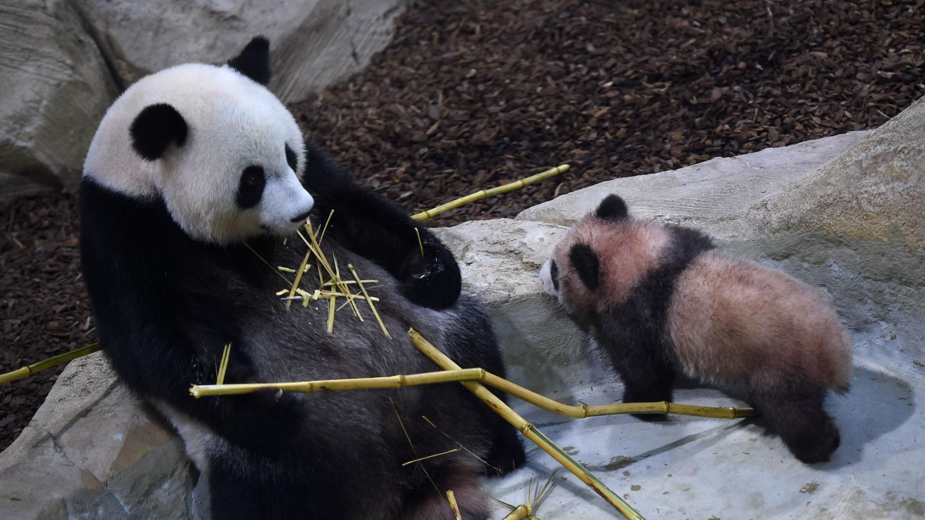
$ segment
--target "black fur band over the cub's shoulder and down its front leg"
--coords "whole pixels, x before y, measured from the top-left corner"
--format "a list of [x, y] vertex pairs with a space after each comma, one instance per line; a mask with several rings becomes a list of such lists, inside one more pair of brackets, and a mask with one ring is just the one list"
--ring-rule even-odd
[[696, 230], [671, 226], [670, 231], [670, 250], [660, 266], [635, 286], [622, 305], [596, 323], [598, 343], [623, 380], [624, 403], [672, 400], [676, 361], [668, 339], [668, 306], [678, 276], [697, 255], [714, 248], [709, 237]]

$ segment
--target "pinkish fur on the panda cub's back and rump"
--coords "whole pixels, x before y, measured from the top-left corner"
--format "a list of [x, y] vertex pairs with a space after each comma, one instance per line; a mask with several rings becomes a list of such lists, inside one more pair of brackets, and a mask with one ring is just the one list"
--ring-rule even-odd
[[685, 373], [706, 381], [764, 385], [799, 372], [845, 390], [851, 378], [851, 339], [819, 291], [721, 251], [678, 278], [668, 330]]

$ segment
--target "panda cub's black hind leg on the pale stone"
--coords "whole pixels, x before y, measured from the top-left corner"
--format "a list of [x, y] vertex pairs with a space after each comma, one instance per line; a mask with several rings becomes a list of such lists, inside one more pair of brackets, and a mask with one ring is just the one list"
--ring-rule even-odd
[[748, 400], [798, 460], [815, 464], [829, 461], [841, 441], [833, 418], [823, 409], [825, 393], [805, 382], [776, 381], [752, 385]]

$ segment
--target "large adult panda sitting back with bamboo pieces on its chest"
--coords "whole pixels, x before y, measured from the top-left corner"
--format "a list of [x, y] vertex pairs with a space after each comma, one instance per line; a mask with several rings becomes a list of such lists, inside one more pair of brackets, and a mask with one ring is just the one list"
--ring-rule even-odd
[[[268, 79], [269, 43], [258, 37], [223, 67], [139, 80], [103, 118], [80, 187], [80, 252], [105, 352], [179, 430], [201, 472], [199, 517], [450, 519], [443, 491], [453, 490], [463, 518], [487, 518], [478, 476], [495, 470], [475, 456], [505, 472], [524, 461], [523, 445], [459, 384], [190, 396], [192, 383], [216, 381], [226, 344], [226, 382], [436, 369], [409, 326], [464, 367], [504, 373], [486, 309], [460, 295], [450, 251], [306, 151]], [[294, 231], [310, 213], [317, 229], [331, 210], [326, 255], [378, 280], [369, 291], [391, 339], [368, 314], [327, 333], [327, 305], [287, 310], [275, 295], [286, 283], [264, 260], [299, 265]], [[302, 277], [310, 293], [319, 285]], [[457, 443], [472, 454], [401, 466]]]

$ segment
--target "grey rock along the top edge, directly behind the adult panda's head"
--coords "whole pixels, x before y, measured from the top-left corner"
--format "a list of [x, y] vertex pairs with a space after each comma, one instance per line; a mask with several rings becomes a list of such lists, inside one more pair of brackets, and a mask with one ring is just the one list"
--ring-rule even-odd
[[404, 0], [80, 2], [123, 86], [180, 63], [224, 63], [264, 34], [273, 43], [270, 90], [286, 103], [365, 67], [391, 40], [404, 6]]

